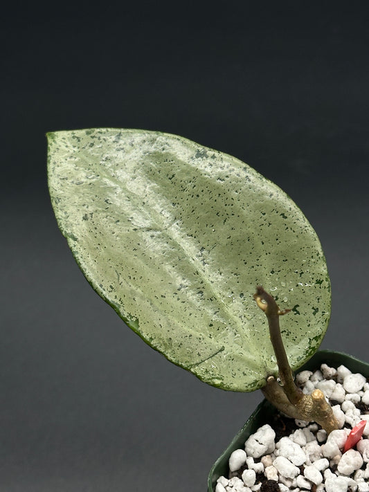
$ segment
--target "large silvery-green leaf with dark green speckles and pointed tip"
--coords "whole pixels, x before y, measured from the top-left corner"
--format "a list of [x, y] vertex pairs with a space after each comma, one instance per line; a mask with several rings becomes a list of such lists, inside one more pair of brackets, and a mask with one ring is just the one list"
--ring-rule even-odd
[[281, 308], [291, 366], [330, 316], [321, 245], [276, 185], [236, 158], [154, 131], [48, 134], [51, 199], [93, 289], [145, 342], [225, 390], [276, 374], [262, 284]]

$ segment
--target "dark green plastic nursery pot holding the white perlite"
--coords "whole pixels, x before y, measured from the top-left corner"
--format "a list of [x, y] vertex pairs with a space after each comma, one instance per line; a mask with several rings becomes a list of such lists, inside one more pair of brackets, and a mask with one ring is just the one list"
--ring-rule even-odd
[[[315, 371], [321, 367], [321, 364], [326, 363], [332, 367], [339, 367], [343, 364], [352, 372], [359, 372], [369, 378], [369, 363], [359, 361], [348, 354], [341, 352], [333, 352], [332, 350], [320, 350], [305, 363], [298, 372], [303, 370]], [[217, 485], [217, 479], [224, 475], [228, 476], [228, 459], [234, 450], [244, 448], [244, 443], [248, 437], [256, 432], [260, 426], [269, 423], [273, 427], [273, 418], [278, 414], [278, 410], [269, 403], [263, 400], [255, 412], [251, 415], [248, 421], [244, 424], [240, 432], [235, 435], [231, 444], [219, 456], [208, 475], [208, 492], [214, 492]]]

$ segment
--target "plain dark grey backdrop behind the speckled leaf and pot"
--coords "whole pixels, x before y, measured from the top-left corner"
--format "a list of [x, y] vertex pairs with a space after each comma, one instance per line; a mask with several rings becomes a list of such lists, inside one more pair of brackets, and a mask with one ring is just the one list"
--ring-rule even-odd
[[327, 257], [323, 347], [368, 360], [368, 3], [13, 3], [0, 22], [0, 491], [204, 492], [260, 394], [171, 365], [92, 291], [44, 134], [168, 131], [278, 183]]

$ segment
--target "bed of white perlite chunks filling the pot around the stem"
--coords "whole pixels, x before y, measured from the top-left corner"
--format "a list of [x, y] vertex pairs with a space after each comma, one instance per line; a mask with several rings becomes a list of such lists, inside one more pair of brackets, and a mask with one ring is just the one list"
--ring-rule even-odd
[[[275, 480], [280, 492], [369, 492], [369, 383], [341, 365], [296, 375], [303, 392], [321, 389], [332, 404], [339, 430], [327, 436], [316, 423], [295, 420], [296, 430], [276, 441], [269, 424], [260, 427], [229, 458], [230, 475], [219, 477], [215, 492], [260, 492]], [[363, 437], [343, 453], [353, 426], [366, 420]], [[332, 468], [333, 467], [333, 468]], [[244, 469], [246, 468], [246, 469]], [[241, 480], [242, 479], [242, 480]]]

